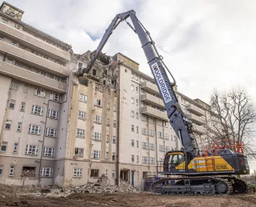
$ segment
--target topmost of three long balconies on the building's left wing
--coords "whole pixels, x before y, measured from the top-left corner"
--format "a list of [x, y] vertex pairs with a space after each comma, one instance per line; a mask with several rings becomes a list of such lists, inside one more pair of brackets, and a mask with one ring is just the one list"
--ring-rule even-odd
[[22, 43], [23, 46], [27, 46], [64, 62], [70, 60], [70, 54], [68, 52], [55, 46], [51, 46], [51, 44], [46, 43], [41, 39], [37, 39], [22, 30], [17, 30], [16, 28], [8, 26], [6, 23], [0, 23], [0, 31], [4, 36]]

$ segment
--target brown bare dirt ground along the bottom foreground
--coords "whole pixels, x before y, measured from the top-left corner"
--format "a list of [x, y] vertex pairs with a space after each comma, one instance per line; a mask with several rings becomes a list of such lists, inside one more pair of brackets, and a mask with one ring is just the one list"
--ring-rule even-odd
[[67, 197], [53, 198], [44, 197], [44, 195], [35, 197], [34, 195], [1, 194], [0, 206], [254, 207], [256, 195], [168, 196], [150, 193], [74, 193]]

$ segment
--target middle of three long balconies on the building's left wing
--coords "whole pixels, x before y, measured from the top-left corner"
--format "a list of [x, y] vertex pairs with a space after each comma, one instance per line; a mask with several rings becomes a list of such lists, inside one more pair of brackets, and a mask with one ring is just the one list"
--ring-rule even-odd
[[29, 66], [33, 66], [39, 70], [44, 70], [45, 72], [59, 77], [66, 77], [69, 73], [68, 68], [61, 66], [60, 64], [34, 55], [31, 52], [22, 50], [21, 48], [17, 48], [3, 41], [0, 41], [0, 51], [6, 52], [8, 57], [14, 58], [21, 63], [26, 63]]

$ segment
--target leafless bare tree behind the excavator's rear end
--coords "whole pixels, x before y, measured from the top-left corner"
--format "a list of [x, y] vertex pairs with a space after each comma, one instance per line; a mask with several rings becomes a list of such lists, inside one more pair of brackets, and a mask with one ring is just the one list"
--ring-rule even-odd
[[245, 88], [236, 87], [228, 92], [214, 90], [210, 99], [215, 115], [205, 124], [206, 140], [231, 139], [243, 141], [247, 154], [253, 150], [253, 124], [256, 113]]

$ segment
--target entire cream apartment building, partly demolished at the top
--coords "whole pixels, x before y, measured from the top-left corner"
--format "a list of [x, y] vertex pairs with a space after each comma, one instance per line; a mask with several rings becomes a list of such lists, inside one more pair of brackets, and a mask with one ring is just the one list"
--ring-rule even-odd
[[[165, 153], [181, 147], [154, 79], [120, 53], [113, 64], [100, 55], [79, 76], [91, 52], [73, 53], [23, 14], [1, 5], [0, 183], [68, 187], [104, 174], [143, 190], [147, 175], [160, 176]], [[201, 141], [210, 109], [176, 94]]]

